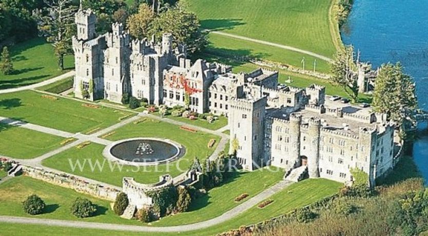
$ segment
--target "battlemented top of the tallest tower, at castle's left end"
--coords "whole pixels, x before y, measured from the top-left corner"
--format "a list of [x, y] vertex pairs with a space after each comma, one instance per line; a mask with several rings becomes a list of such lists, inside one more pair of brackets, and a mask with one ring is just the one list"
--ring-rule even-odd
[[88, 41], [95, 38], [96, 15], [91, 10], [79, 9], [74, 16], [77, 26], [77, 40]]

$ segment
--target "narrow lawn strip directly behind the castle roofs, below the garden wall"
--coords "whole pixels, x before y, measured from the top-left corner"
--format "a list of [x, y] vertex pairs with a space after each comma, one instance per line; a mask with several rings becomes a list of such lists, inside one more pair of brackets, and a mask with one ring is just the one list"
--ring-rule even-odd
[[[234, 67], [233, 71], [235, 73], [239, 73], [241, 71], [250, 72], [250, 71], [253, 71], [257, 68], [259, 68], [259, 66], [251, 64], [251, 63], [247, 63], [247, 64], [238, 65], [238, 66]], [[276, 70], [278, 70], [278, 69], [276, 69]], [[293, 72], [285, 71], [285, 70], [278, 70], [278, 71], [279, 71], [278, 82], [280, 84], [286, 84], [289, 86], [299, 87], [299, 88], [306, 88], [309, 85], [317, 84], [317, 85], [325, 86], [325, 92], [328, 95], [339, 95], [342, 97], [349, 97], [341, 87], [335, 86], [335, 85], [333, 85], [333, 84], [329, 83], [328, 81], [323, 80], [321, 78], [315, 78], [315, 77], [302, 75], [302, 74], [298, 74], [298, 73], [293, 73]], [[287, 82], [288, 79], [290, 79], [291, 83]], [[359, 100], [360, 100], [360, 102], [371, 103], [372, 97], [370, 95], [367, 95], [367, 94], [360, 94]]]

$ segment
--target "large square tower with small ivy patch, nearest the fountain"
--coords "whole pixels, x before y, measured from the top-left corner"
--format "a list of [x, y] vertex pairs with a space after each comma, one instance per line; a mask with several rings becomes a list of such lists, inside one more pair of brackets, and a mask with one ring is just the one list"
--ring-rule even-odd
[[254, 170], [266, 161], [263, 152], [266, 104], [266, 97], [230, 100], [230, 151], [236, 150], [239, 164], [246, 170]]

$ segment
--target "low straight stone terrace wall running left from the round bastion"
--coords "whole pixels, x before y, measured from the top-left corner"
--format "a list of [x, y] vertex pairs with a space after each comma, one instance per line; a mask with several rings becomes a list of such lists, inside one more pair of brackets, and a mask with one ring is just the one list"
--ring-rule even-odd
[[37, 180], [45, 181], [65, 188], [71, 188], [77, 192], [86, 193], [95, 196], [96, 198], [105, 199], [108, 201], [114, 201], [116, 199], [116, 195], [120, 192], [119, 189], [104, 187], [97, 184], [90, 184], [84, 180], [75, 178], [74, 176], [54, 173], [46, 171], [42, 168], [23, 166], [23, 174]]

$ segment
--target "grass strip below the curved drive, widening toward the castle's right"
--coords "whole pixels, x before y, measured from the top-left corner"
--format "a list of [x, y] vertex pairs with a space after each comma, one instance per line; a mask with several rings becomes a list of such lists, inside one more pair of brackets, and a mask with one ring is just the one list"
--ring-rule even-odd
[[[271, 199], [275, 200], [272, 204], [263, 209], [253, 207], [234, 219], [223, 222], [216, 226], [211, 226], [205, 229], [189, 232], [180, 232], [180, 235], [215, 235], [230, 229], [239, 228], [242, 225], [261, 222], [280, 214], [290, 212], [295, 208], [299, 208], [311, 203], [314, 203], [322, 198], [332, 195], [338, 191], [341, 184], [324, 179], [310, 179], [296, 184], [293, 184], [284, 190], [276, 193]], [[83, 228], [67, 228], [67, 227], [52, 227], [42, 225], [23, 225], [21, 224], [6, 224], [0, 223], [0, 233], [2, 235], [177, 235], [174, 233], [153, 233], [153, 232], [124, 232], [113, 230], [95, 230]]]

